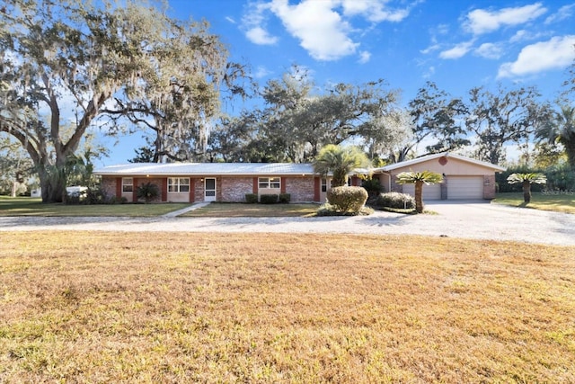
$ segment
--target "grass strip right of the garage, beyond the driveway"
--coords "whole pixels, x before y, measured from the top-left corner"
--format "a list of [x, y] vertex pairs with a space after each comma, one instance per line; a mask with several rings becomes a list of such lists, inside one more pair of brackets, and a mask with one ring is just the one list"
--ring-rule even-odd
[[523, 201], [523, 192], [498, 193], [491, 202], [511, 205], [513, 207], [526, 207], [535, 210], [552, 210], [555, 212], [575, 214], [575, 194], [544, 194], [542, 192], [532, 192], [531, 202], [525, 204], [525, 201]]

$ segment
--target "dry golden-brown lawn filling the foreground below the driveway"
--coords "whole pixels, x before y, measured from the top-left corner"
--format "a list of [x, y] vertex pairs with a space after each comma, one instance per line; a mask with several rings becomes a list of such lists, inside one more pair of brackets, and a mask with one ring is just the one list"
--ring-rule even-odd
[[575, 382], [575, 251], [0, 234], [0, 382]]

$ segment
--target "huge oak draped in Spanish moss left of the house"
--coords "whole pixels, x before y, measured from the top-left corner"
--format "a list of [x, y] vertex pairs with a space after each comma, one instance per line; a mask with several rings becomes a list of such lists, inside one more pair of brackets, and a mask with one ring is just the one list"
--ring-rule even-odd
[[206, 24], [135, 1], [12, 0], [0, 50], [0, 133], [31, 157], [45, 202], [65, 198], [66, 158], [95, 126], [114, 133], [136, 122], [156, 133], [156, 152], [197, 150], [178, 146], [205, 141], [201, 121], [234, 72]]

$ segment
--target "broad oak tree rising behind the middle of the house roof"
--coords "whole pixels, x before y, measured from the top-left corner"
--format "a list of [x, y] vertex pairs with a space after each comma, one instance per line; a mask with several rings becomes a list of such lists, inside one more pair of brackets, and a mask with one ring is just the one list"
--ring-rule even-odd
[[[383, 151], [382, 140], [393, 136], [384, 130], [394, 129], [384, 117], [396, 111], [399, 92], [387, 89], [383, 80], [322, 89], [305, 68], [294, 66], [268, 81], [261, 98], [261, 108], [223, 122], [218, 139], [212, 142], [216, 153], [226, 158], [301, 163], [312, 161], [325, 145], [346, 140], [363, 141], [374, 152]], [[231, 142], [242, 143], [241, 154], [230, 151]]]

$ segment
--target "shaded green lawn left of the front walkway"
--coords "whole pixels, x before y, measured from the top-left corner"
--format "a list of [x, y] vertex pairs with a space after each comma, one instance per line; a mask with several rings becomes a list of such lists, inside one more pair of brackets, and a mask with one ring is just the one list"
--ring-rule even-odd
[[43, 204], [41, 199], [0, 196], [0, 216], [126, 216], [155, 217], [189, 207], [189, 203], [157, 204], [95, 204], [66, 205]]

